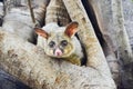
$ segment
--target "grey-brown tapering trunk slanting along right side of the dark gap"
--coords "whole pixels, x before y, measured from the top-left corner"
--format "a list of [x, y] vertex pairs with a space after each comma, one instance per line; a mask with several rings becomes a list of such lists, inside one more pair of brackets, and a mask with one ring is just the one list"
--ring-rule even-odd
[[[110, 6], [108, 6], [103, 2], [101, 2], [101, 0], [88, 0], [85, 4], [88, 4], [92, 11], [94, 11], [93, 17], [96, 18], [96, 22], [98, 22], [98, 27], [99, 27], [99, 29], [96, 28], [96, 30], [101, 31], [102, 37], [104, 39], [104, 41], [102, 41], [102, 48], [103, 48], [105, 58], [108, 60], [109, 67], [111, 69], [113, 79], [115, 80], [115, 83], [119, 85], [121, 81], [120, 80], [121, 66], [119, 63], [119, 59], [116, 59], [115, 53], [114, 53], [114, 51], [115, 51], [115, 49], [114, 49], [115, 43], [113, 42], [114, 34], [111, 33], [111, 32], [113, 32], [113, 30], [111, 30], [112, 27], [109, 27], [110, 26], [109, 20], [111, 19], [111, 18], [109, 19], [109, 17], [111, 14], [109, 16], [108, 11], [110, 11], [110, 8], [109, 8]], [[102, 11], [103, 10], [102, 6], [105, 8], [104, 11]], [[88, 11], [89, 8], [85, 8], [85, 9]], [[104, 13], [104, 12], [106, 12], [106, 13]], [[105, 16], [108, 18], [105, 18]]]

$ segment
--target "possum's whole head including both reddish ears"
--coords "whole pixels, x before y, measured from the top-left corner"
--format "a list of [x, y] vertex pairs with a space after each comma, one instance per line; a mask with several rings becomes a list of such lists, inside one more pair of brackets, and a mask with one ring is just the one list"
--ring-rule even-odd
[[64, 31], [48, 33], [42, 29], [35, 32], [47, 39], [44, 52], [54, 58], [66, 58], [74, 51], [73, 36], [78, 31], [78, 22], [71, 22]]

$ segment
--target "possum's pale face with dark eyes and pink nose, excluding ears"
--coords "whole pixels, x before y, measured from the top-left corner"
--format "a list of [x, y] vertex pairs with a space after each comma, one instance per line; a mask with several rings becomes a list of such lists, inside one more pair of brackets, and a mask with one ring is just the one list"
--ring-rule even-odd
[[53, 33], [47, 40], [45, 53], [51, 57], [69, 57], [73, 50], [74, 47], [71, 39], [63, 33]]

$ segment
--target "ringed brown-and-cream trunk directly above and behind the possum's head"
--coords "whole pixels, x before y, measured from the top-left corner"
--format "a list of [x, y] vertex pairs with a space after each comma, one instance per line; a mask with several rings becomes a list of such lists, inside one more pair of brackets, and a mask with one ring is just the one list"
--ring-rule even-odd
[[62, 0], [51, 0], [47, 7], [45, 23], [58, 22], [59, 26], [66, 26], [70, 22], [69, 13]]

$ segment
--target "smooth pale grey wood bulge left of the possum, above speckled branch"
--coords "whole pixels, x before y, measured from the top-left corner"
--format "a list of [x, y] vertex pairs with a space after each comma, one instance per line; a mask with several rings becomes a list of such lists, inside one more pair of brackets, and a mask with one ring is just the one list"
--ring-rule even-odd
[[4, 17], [2, 28], [10, 33], [18, 34], [24, 40], [34, 42], [34, 24], [31, 20], [29, 11], [23, 11], [21, 9], [11, 9]]

